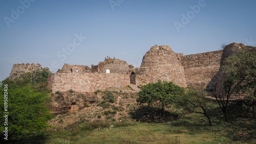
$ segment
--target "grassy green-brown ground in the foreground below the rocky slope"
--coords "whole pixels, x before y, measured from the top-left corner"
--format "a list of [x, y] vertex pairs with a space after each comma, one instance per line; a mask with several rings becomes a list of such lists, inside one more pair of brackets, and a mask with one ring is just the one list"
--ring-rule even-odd
[[[229, 123], [223, 122], [219, 107], [211, 109], [213, 126], [201, 114], [174, 121], [142, 123], [127, 118], [122, 122], [84, 122], [66, 130], [48, 130], [45, 142], [63, 143], [256, 143], [256, 121], [241, 107], [229, 108]], [[71, 129], [70, 131], [68, 129]]]

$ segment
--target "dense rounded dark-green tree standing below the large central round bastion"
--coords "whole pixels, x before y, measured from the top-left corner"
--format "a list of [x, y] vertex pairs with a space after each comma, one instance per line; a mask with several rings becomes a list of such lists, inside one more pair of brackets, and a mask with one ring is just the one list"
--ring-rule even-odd
[[184, 93], [184, 88], [175, 85], [173, 82], [150, 83], [142, 86], [141, 91], [138, 93], [139, 104], [148, 104], [150, 106], [161, 107], [161, 116], [163, 116], [164, 107], [172, 104], [176, 97]]

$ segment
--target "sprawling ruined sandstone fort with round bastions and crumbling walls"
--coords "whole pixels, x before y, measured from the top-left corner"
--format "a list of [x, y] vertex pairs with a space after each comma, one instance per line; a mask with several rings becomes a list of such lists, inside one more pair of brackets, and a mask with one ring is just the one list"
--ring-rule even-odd
[[[253, 47], [254, 49], [255, 47]], [[249, 49], [242, 43], [231, 43], [224, 50], [193, 55], [175, 53], [170, 46], [155, 45], [146, 52], [140, 67], [134, 68], [120, 59], [104, 59], [98, 65], [63, 65], [48, 77], [48, 87], [55, 91], [90, 92], [108, 87], [140, 87], [158, 80], [174, 82], [181, 87], [223, 91], [221, 66], [225, 58]], [[17, 71], [28, 72], [40, 64], [14, 64], [9, 78]], [[107, 71], [107, 73], [106, 73]], [[108, 71], [110, 73], [108, 73]]]

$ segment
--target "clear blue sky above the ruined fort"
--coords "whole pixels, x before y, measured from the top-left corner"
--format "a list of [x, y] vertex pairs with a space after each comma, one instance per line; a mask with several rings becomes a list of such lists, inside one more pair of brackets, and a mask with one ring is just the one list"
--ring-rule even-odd
[[155, 44], [188, 55], [256, 43], [254, 0], [30, 1], [0, 1], [0, 80], [14, 63], [55, 72], [64, 63], [91, 67], [110, 56], [139, 67]]

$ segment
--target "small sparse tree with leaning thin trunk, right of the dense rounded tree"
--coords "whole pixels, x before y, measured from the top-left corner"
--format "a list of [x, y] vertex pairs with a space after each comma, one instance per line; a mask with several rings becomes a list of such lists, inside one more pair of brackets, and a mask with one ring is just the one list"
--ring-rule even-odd
[[210, 108], [210, 100], [205, 93], [197, 89], [188, 89], [188, 91], [180, 97], [178, 106], [182, 108], [185, 114], [201, 113], [204, 114], [211, 126], [211, 119], [208, 113]]

